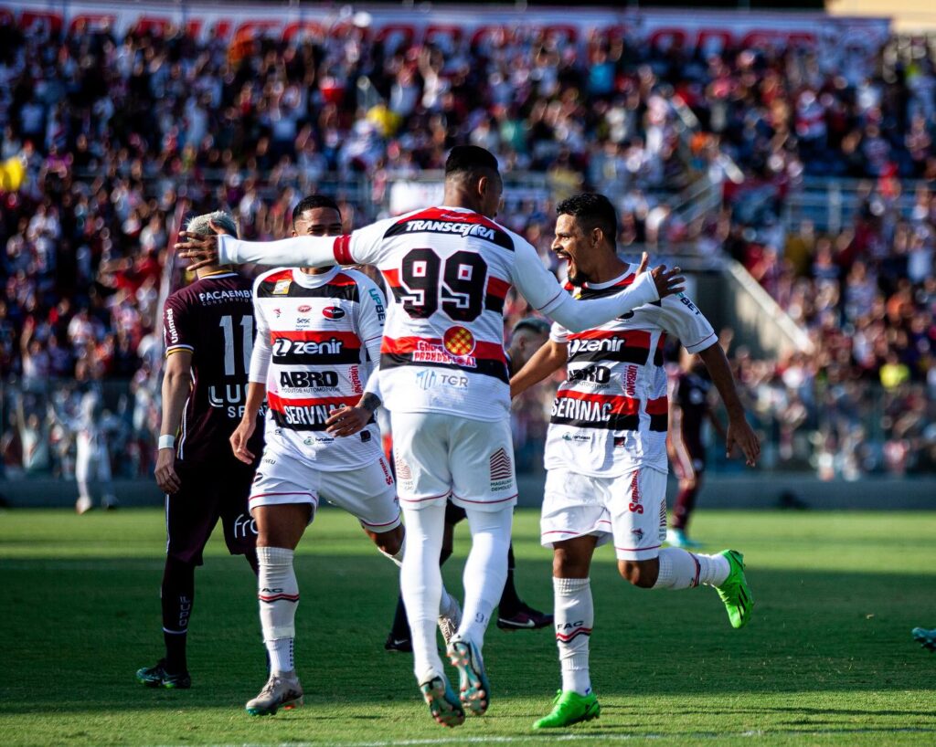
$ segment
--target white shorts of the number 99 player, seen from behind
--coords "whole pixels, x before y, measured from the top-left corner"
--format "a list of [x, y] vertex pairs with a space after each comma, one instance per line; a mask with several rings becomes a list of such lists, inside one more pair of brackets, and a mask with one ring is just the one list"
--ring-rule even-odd
[[517, 505], [510, 422], [440, 412], [390, 412], [400, 500], [412, 509], [501, 510]]

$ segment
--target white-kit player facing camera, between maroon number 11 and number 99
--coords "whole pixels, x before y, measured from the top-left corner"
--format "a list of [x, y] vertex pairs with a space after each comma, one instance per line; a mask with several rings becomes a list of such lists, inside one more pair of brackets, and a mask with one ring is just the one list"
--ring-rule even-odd
[[[306, 197], [293, 210], [293, 236], [338, 236], [341, 229], [341, 212], [329, 197]], [[280, 267], [256, 279], [254, 310], [250, 384], [230, 442], [238, 459], [254, 462], [248, 444], [266, 397], [266, 446], [250, 507], [258, 535], [260, 623], [271, 671], [246, 710], [268, 715], [302, 702], [293, 657], [300, 598], [293, 553], [319, 500], [358, 517], [380, 552], [398, 564], [403, 527], [373, 421], [376, 404], [369, 423], [354, 437], [329, 433], [329, 425], [341, 420], [340, 414], [331, 418], [332, 411], [358, 403], [368, 379], [367, 362], [379, 360], [383, 294], [356, 270]], [[447, 616], [459, 614], [457, 602], [447, 595], [443, 601]], [[451, 626], [453, 633], [456, 626]]]

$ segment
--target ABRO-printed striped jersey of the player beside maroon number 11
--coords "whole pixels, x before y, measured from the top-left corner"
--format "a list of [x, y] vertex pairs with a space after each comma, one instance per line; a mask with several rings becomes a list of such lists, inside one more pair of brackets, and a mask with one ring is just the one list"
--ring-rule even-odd
[[332, 409], [358, 404], [379, 355], [386, 306], [373, 280], [338, 267], [320, 275], [280, 267], [256, 279], [254, 306], [250, 381], [267, 387], [267, 452], [326, 471], [379, 459], [375, 422], [347, 438], [325, 430]]

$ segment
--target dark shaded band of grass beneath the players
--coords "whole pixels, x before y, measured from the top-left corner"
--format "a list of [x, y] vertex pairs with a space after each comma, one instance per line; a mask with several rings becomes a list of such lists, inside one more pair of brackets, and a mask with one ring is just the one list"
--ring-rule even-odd
[[[520, 561], [518, 585], [531, 603], [548, 607], [543, 567]], [[300, 557], [297, 570], [297, 662], [307, 699], [335, 708], [417, 702], [411, 657], [383, 650], [396, 598], [395, 568], [373, 553], [310, 554]], [[453, 589], [460, 571], [461, 564], [446, 568]], [[0, 618], [6, 644], [0, 713], [237, 710], [266, 680], [255, 581], [240, 558], [211, 557], [198, 570], [190, 691], [148, 690], [134, 680], [137, 668], [161, 655], [158, 572], [82, 557], [0, 560], [0, 573], [7, 601]], [[753, 623], [733, 630], [711, 589], [638, 590], [622, 582], [612, 562], [596, 562], [596, 691], [625, 702], [673, 697], [675, 705], [667, 708], [679, 714], [931, 715], [931, 709], [892, 710], [884, 703], [881, 710], [802, 708], [792, 697], [929, 689], [936, 658], [914, 645], [910, 628], [936, 625], [921, 617], [934, 612], [931, 576], [754, 570], [750, 581], [757, 602]], [[485, 655], [495, 697], [514, 699], [519, 707], [535, 698], [540, 708], [558, 682], [548, 630], [508, 634], [491, 626]], [[736, 705], [728, 698], [704, 707], [693, 702], [700, 695], [758, 694], [791, 696], [789, 705], [765, 702], [763, 708], [760, 701]], [[617, 707], [608, 703], [606, 709]], [[380, 716], [339, 710], [332, 717]]]

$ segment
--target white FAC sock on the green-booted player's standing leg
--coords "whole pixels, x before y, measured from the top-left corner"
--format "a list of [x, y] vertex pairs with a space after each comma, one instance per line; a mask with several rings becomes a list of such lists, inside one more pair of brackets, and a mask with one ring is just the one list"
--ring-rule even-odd
[[574, 690], [586, 696], [592, 692], [588, 667], [588, 642], [594, 625], [592, 583], [588, 579], [553, 578], [552, 591], [563, 692]]

